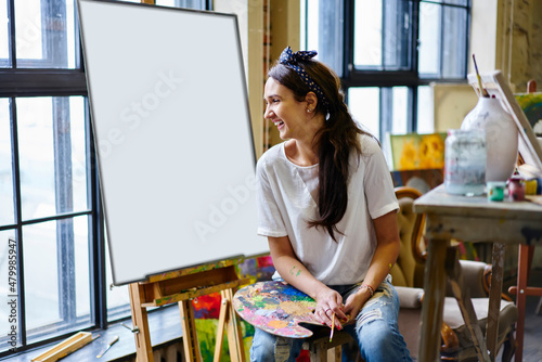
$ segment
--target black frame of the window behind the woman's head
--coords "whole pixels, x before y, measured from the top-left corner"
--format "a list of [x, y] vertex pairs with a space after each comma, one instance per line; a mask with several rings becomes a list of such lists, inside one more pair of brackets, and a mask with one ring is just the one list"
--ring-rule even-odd
[[[305, 1], [305, 9], [308, 9], [308, 3], [311, 0], [302, 0]], [[356, 68], [354, 66], [354, 16], [356, 16], [356, 0], [334, 0], [334, 9], [337, 12], [343, 12], [343, 16], [337, 16], [336, 14], [332, 15], [335, 22], [330, 22], [325, 14], [322, 11], [322, 7], [330, 7], [330, 3], [333, 1], [330, 0], [320, 0], [319, 1], [319, 22], [327, 24], [336, 24], [335, 29], [330, 30], [325, 29], [325, 35], [319, 34], [319, 53], [320, 55], [324, 55], [323, 61], [331, 65], [340, 77], [343, 90], [347, 98], [348, 102], [348, 90], [350, 88], [358, 87], [377, 87], [379, 88], [379, 99], [380, 99], [380, 119], [379, 119], [379, 133], [380, 135], [386, 134], [387, 131], [391, 130], [391, 117], [389, 104], [386, 104], [386, 100], [391, 99], [392, 87], [406, 87], [408, 88], [408, 117], [406, 117], [406, 132], [417, 132], [417, 90], [418, 87], [429, 86], [431, 82], [446, 82], [446, 83], [464, 83], [466, 81], [467, 76], [467, 64], [468, 56], [462, 61], [462, 74], [460, 77], [450, 78], [443, 76], [443, 67], [442, 67], [442, 57], [443, 57], [443, 36], [441, 30], [441, 43], [439, 49], [439, 70], [436, 77], [424, 76], [418, 73], [418, 46], [420, 46], [420, 5], [421, 3], [435, 4], [442, 8], [459, 8], [466, 10], [466, 28], [464, 29], [464, 52], [465, 55], [468, 54], [469, 47], [469, 28], [470, 28], [470, 10], [472, 10], [472, 0], [384, 0], [386, 1], [386, 7], [390, 7], [390, 3], [393, 2], [398, 9], [399, 7], [408, 8], [412, 7], [410, 10], [410, 39], [406, 44], [406, 52], [410, 60], [409, 67], [406, 68], [398, 68], [398, 69], [385, 69], [377, 67], [365, 67], [363, 69]], [[460, 4], [463, 2], [464, 4]], [[327, 2], [327, 5], [326, 5]], [[384, 8], [384, 7], [383, 7]], [[383, 11], [384, 12], [384, 11]], [[400, 11], [397, 11], [398, 13]], [[324, 14], [323, 14], [324, 13]], [[400, 14], [392, 14], [400, 16]], [[308, 43], [308, 15], [301, 14], [305, 16], [305, 25], [307, 28], [305, 29], [305, 43]], [[385, 15], [383, 15], [385, 17]], [[384, 22], [386, 23], [386, 22]], [[388, 22], [392, 23], [392, 22]], [[393, 24], [392, 24], [393, 25]], [[335, 34], [335, 33], [339, 34]], [[332, 35], [330, 37], [330, 35]], [[341, 40], [341, 53], [339, 56], [331, 56], [331, 52], [337, 53], [337, 47], [333, 47], [326, 44], [326, 41], [322, 41], [324, 37], [328, 39]], [[327, 42], [330, 42], [328, 40]], [[385, 44], [386, 46], [386, 44]], [[392, 44], [389, 44], [392, 46]], [[384, 53], [384, 52], [383, 52]], [[320, 56], [319, 55], [319, 56]]]

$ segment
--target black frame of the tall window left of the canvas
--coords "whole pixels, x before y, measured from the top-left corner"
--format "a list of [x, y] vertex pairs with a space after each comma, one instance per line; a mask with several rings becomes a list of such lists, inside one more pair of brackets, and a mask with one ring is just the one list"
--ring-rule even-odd
[[[181, 7], [194, 0], [176, 0], [176, 5]], [[51, 7], [50, 1], [41, 0], [41, 9]], [[205, 10], [212, 9], [211, 0], [199, 0], [199, 3], [205, 7]], [[16, 57], [16, 37], [15, 37], [15, 0], [7, 0], [8, 4], [8, 18], [10, 20], [8, 36], [9, 36], [9, 59], [0, 60], [0, 99], [9, 100], [9, 112], [10, 112], [10, 130], [11, 130], [11, 147], [12, 147], [12, 184], [13, 184], [13, 203], [14, 203], [14, 222], [8, 224], [0, 224], [0, 231], [12, 230], [15, 233], [16, 243], [16, 255], [17, 255], [17, 294], [18, 294], [18, 305], [17, 305], [17, 347], [15, 349], [5, 349], [0, 351], [0, 359], [9, 355], [14, 355], [18, 352], [23, 352], [36, 347], [40, 347], [51, 341], [60, 340], [73, 335], [74, 328], [80, 329], [96, 329], [96, 328], [107, 328], [108, 324], [116, 322], [118, 320], [128, 319], [131, 316], [129, 308], [115, 307], [113, 311], [107, 310], [107, 288], [106, 284], [106, 250], [105, 250], [105, 221], [104, 211], [101, 203], [101, 191], [100, 181], [98, 174], [98, 158], [94, 147], [94, 137], [91, 127], [91, 115], [88, 100], [87, 91], [87, 79], [85, 74], [85, 63], [83, 53], [81, 47], [81, 40], [79, 36], [79, 20], [77, 14], [77, 1], [75, 1], [74, 7], [74, 21], [76, 29], [76, 68], [59, 68], [59, 67], [48, 67], [55, 66], [55, 62], [51, 60], [55, 56], [54, 52], [50, 50], [44, 50], [47, 57], [43, 61], [26, 61], [17, 60]], [[48, 8], [47, 8], [48, 9]], [[46, 37], [46, 36], [44, 36]], [[50, 39], [42, 38], [42, 44], [51, 44]], [[24, 67], [17, 67], [22, 65]], [[26, 66], [26, 67], [25, 67]], [[28, 67], [28, 66], [39, 66], [39, 67]], [[35, 96], [51, 96], [59, 98], [53, 99], [53, 103], [59, 100], [59, 102], [67, 101], [67, 96], [83, 96], [83, 107], [85, 107], [85, 129], [86, 129], [86, 161], [87, 161], [87, 209], [78, 211], [61, 211], [55, 212], [54, 216], [36, 218], [36, 219], [23, 219], [22, 215], [22, 195], [21, 195], [21, 169], [18, 159], [18, 134], [17, 134], [17, 109], [16, 109], [16, 99], [22, 98], [35, 98]], [[54, 104], [53, 104], [54, 113]], [[54, 124], [54, 122], [53, 122]], [[53, 126], [55, 127], [55, 126]], [[69, 142], [69, 141], [66, 141]], [[59, 142], [54, 141], [55, 147], [57, 144], [63, 145], [62, 140]], [[68, 144], [64, 144], [66, 147]], [[59, 150], [56, 150], [59, 151]], [[61, 152], [62, 153], [62, 152]], [[70, 160], [68, 164], [63, 164], [56, 161], [55, 166], [60, 169], [55, 169], [55, 184], [56, 180], [61, 180], [60, 174], [66, 173], [65, 167], [70, 167]], [[62, 184], [55, 185], [55, 188], [63, 188]], [[56, 193], [56, 206], [62, 205], [63, 201], [62, 193]], [[28, 341], [27, 328], [26, 328], [26, 311], [25, 311], [25, 279], [24, 279], [24, 260], [23, 250], [25, 247], [23, 238], [23, 227], [37, 224], [48, 221], [56, 221], [62, 224], [65, 220], [70, 220], [75, 217], [85, 217], [89, 219], [89, 279], [90, 279], [90, 322], [88, 319], [83, 323], [77, 321], [77, 315], [74, 306], [69, 306], [69, 302], [64, 301], [63, 298], [59, 300], [63, 301], [60, 308], [60, 314], [70, 323], [73, 327], [68, 329], [62, 329], [65, 325], [65, 321], [49, 324], [40, 331], [43, 335], [48, 335], [39, 340]], [[62, 225], [57, 225], [57, 249], [59, 249], [59, 294], [62, 294], [62, 289], [66, 289], [69, 295], [75, 294], [75, 276], [74, 273], [63, 269], [63, 264], [67, 268], [74, 269], [74, 258], [73, 258], [73, 245], [64, 236], [59, 236], [59, 233], [63, 231]], [[4, 281], [8, 283], [8, 281]], [[74, 301], [75, 302], [75, 301]], [[115, 312], [126, 311], [126, 315], [118, 315]], [[113, 318], [112, 318], [113, 315]], [[5, 336], [4, 336], [5, 337]], [[4, 338], [5, 339], [5, 338]], [[3, 340], [3, 339], [2, 339]]]

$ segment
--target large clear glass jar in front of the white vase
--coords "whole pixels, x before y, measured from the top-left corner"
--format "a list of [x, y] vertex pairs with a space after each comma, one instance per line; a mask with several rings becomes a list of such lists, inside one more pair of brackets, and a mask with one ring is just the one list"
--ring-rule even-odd
[[444, 189], [450, 194], [482, 195], [486, 186], [486, 131], [448, 131], [444, 152]]

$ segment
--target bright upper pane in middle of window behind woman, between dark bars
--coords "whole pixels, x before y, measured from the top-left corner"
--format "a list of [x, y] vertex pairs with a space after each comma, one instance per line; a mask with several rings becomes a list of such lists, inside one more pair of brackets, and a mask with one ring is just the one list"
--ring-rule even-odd
[[357, 1], [354, 16], [353, 63], [356, 67], [382, 67], [382, 1]]

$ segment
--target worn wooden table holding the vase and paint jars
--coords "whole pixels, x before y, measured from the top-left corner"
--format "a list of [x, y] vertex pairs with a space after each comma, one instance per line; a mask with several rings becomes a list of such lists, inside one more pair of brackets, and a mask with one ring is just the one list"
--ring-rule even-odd
[[[478, 324], [470, 323], [474, 341], [479, 344], [481, 350], [480, 360], [494, 360], [503, 283], [504, 245], [542, 245], [542, 206], [529, 202], [488, 202], [486, 196], [451, 195], [446, 192], [443, 185], [440, 185], [417, 198], [414, 202], [414, 211], [426, 214], [426, 236], [429, 241], [418, 361], [439, 360], [446, 279], [450, 275], [450, 268], [447, 273], [446, 262], [451, 238], [494, 243], [486, 339], [480, 335]], [[465, 305], [467, 319], [476, 318], [473, 315], [474, 310], [469, 299]], [[463, 315], [465, 316], [465, 313]], [[472, 321], [465, 322], [468, 324]], [[518, 349], [522, 349], [522, 346], [518, 346]]]

